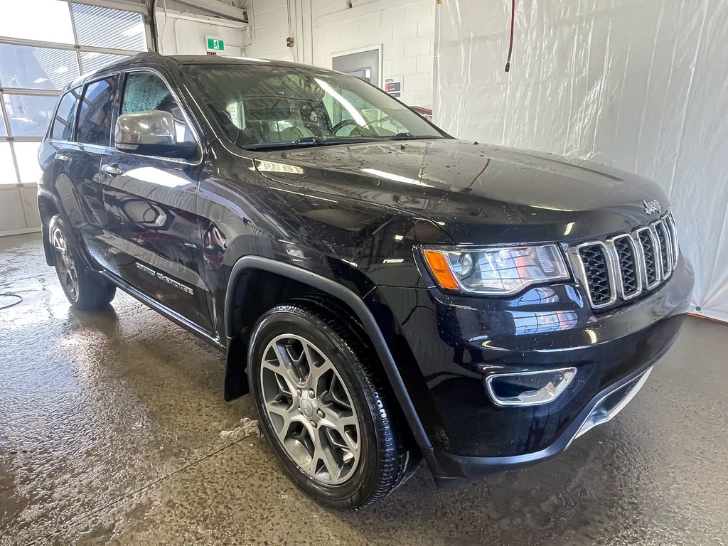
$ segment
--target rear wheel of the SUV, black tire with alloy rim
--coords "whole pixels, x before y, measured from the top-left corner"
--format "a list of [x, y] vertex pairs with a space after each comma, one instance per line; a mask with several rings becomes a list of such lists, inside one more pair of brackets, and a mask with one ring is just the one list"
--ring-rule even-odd
[[71, 306], [82, 311], [108, 306], [116, 287], [86, 265], [60, 215], [48, 224], [48, 240], [55, 255], [55, 272]]

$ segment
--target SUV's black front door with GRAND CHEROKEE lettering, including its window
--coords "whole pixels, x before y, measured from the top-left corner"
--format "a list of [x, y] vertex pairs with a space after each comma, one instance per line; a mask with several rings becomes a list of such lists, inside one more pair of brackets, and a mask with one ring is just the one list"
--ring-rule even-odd
[[119, 277], [210, 333], [196, 214], [202, 146], [165, 76], [153, 68], [124, 72], [119, 114], [151, 110], [172, 113], [178, 140], [197, 142], [198, 157], [186, 161], [119, 149], [104, 157], [100, 179], [109, 217], [106, 242]]

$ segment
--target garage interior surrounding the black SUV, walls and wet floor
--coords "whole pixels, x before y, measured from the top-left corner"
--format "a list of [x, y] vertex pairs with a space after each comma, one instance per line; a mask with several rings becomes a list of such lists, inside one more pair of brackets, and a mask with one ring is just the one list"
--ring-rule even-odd
[[[8, 0], [0, 15], [1, 546], [728, 544], [728, 4]], [[36, 154], [60, 90], [147, 50], [337, 68], [457, 138], [650, 178], [695, 267], [692, 316], [640, 395], [554, 459], [451, 490], [423, 464], [371, 510], [325, 510], [277, 466], [250, 397], [223, 401], [223, 355], [124, 293], [71, 309], [45, 264]]]

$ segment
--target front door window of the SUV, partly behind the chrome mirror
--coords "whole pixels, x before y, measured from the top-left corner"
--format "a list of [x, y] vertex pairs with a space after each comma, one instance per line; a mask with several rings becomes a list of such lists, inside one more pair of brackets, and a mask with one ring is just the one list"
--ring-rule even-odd
[[164, 80], [153, 72], [130, 72], [124, 82], [122, 114], [162, 110], [172, 114], [178, 143], [194, 143], [182, 110]]

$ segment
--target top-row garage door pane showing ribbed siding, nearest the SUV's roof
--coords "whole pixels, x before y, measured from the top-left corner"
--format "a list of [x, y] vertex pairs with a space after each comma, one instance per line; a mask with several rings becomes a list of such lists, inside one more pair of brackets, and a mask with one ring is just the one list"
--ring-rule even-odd
[[72, 9], [79, 44], [116, 50], [147, 50], [141, 13], [84, 4], [73, 4]]

